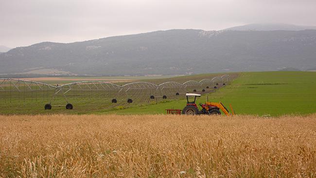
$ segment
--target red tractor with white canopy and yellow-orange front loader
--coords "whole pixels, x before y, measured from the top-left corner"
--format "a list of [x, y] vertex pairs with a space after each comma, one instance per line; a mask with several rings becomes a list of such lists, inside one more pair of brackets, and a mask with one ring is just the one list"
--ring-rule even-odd
[[[202, 107], [201, 110], [198, 109], [197, 105], [195, 104], [196, 97], [200, 97], [200, 94], [195, 93], [187, 93], [187, 106], [182, 109], [182, 114], [187, 115], [198, 115], [198, 114], [221, 114], [220, 109], [227, 115], [230, 114], [228, 109], [221, 103], [214, 103], [214, 102], [205, 102], [205, 104], [199, 104]], [[190, 102], [189, 97], [194, 96], [194, 101]], [[233, 111], [232, 111], [233, 112]]]

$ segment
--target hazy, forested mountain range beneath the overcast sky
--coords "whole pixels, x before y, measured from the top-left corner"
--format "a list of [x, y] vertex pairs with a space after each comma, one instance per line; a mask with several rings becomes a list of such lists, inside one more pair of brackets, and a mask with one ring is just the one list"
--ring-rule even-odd
[[0, 53], [0, 64], [0, 74], [305, 71], [316, 68], [316, 30], [179, 29], [74, 43], [41, 42]]

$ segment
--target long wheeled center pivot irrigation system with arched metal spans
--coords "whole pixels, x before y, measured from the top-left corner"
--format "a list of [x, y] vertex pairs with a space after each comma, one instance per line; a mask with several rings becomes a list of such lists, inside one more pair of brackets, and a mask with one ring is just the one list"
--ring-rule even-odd
[[[208, 93], [225, 86], [229, 75], [212, 79], [165, 82], [159, 85], [149, 82], [132, 82], [117, 85], [103, 81], [82, 81], [60, 86], [45, 83], [2, 78], [0, 79], [0, 107], [17, 109], [26, 106], [44, 105], [45, 109], [74, 105], [105, 107], [125, 106], [131, 103], [160, 102], [177, 99], [186, 93]], [[43, 108], [43, 107], [42, 107]]]

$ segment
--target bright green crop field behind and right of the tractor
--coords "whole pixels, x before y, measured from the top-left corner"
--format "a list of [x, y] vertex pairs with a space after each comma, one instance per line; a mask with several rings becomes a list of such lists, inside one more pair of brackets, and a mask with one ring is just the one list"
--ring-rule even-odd
[[[204, 103], [203, 95], [197, 103]], [[316, 72], [242, 72], [230, 85], [209, 94], [209, 101], [229, 104], [237, 114], [271, 115], [316, 112]], [[186, 100], [104, 111], [119, 114], [160, 114], [166, 108], [182, 109]], [[99, 111], [102, 113], [102, 111]]]

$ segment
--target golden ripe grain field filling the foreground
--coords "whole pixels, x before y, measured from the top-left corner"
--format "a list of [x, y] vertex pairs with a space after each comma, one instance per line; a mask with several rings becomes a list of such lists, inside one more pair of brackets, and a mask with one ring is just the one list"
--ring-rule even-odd
[[315, 177], [316, 115], [0, 116], [0, 177]]

